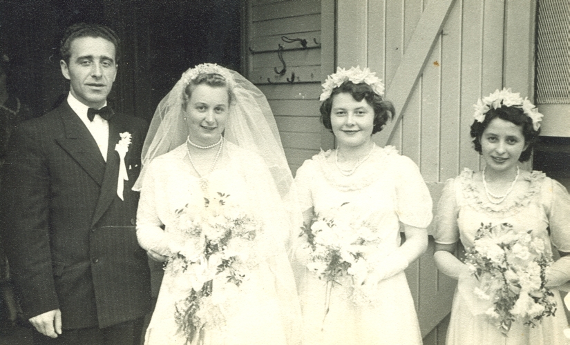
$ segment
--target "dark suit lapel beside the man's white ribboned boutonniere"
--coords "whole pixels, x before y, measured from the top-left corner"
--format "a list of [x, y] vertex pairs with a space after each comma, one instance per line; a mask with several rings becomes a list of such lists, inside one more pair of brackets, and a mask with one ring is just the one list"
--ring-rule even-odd
[[123, 130], [122, 123], [117, 119], [117, 114], [109, 121], [109, 140], [107, 148], [107, 164], [101, 186], [101, 193], [95, 207], [95, 213], [91, 221], [91, 226], [95, 226], [97, 221], [105, 213], [105, 210], [111, 205], [111, 202], [117, 197], [117, 181], [119, 179], [119, 153], [115, 151], [115, 145], [121, 139], [119, 133]]

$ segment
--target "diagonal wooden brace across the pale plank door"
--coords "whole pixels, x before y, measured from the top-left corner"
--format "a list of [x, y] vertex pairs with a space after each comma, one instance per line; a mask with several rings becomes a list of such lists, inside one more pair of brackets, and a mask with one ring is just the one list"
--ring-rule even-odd
[[430, 52], [437, 42], [439, 32], [444, 26], [453, 3], [455, 0], [429, 1], [427, 8], [421, 14], [396, 74], [386, 88], [386, 99], [394, 103], [396, 117], [388, 122], [381, 132], [374, 135], [374, 141], [380, 146], [388, 144], [394, 134], [396, 124], [408, 105], [412, 90], [426, 66]]

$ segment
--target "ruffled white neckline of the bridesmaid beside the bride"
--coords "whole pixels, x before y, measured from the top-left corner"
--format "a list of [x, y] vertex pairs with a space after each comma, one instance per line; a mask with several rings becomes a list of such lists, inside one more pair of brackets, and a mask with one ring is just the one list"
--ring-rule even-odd
[[333, 157], [336, 150], [321, 150], [319, 154], [312, 157], [312, 161], [335, 188], [343, 192], [361, 190], [381, 178], [382, 172], [390, 166], [386, 164], [387, 159], [399, 156], [398, 150], [391, 145], [383, 148], [374, 145], [372, 150], [370, 157], [350, 176], [343, 175], [339, 168], [336, 168]]

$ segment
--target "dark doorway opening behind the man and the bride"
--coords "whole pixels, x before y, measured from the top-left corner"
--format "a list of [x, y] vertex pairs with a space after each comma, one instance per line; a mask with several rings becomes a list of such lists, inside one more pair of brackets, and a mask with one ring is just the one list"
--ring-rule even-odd
[[187, 68], [240, 70], [240, 12], [240, 0], [1, 0], [0, 51], [13, 66], [12, 91], [39, 116], [68, 92], [58, 51], [65, 28], [104, 23], [122, 39], [110, 101], [150, 120]]

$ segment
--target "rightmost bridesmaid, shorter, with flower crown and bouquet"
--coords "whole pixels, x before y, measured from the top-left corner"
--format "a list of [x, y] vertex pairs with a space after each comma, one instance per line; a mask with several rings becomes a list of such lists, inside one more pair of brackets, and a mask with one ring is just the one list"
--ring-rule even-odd
[[[485, 167], [477, 172], [466, 168], [449, 179], [436, 216], [435, 262], [442, 273], [458, 279], [447, 345], [567, 344], [567, 319], [556, 288], [570, 279], [570, 197], [542, 172], [519, 167], [531, 158], [541, 119], [531, 101], [511, 89], [496, 90], [475, 104], [471, 137]], [[465, 263], [455, 256], [459, 242], [468, 253]], [[488, 280], [488, 268], [476, 270], [473, 248], [477, 255], [489, 249], [487, 257], [493, 256], [491, 246], [482, 243], [495, 244], [495, 253], [514, 254], [504, 255], [504, 279]], [[562, 256], [553, 264], [551, 245]], [[545, 258], [530, 262], [527, 267], [533, 265], [534, 271], [522, 267], [513, 274], [505, 268], [533, 256]], [[529, 282], [535, 283], [525, 288]], [[506, 288], [497, 290], [497, 284]], [[518, 302], [511, 306], [516, 294]], [[550, 315], [554, 303], [558, 310]]]

